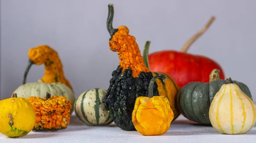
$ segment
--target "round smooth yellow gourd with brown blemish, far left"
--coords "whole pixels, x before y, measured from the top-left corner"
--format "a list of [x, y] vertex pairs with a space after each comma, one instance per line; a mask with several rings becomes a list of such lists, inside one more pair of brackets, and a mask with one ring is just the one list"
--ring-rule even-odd
[[0, 101], [0, 132], [8, 137], [22, 137], [35, 126], [35, 111], [28, 99], [13, 93]]

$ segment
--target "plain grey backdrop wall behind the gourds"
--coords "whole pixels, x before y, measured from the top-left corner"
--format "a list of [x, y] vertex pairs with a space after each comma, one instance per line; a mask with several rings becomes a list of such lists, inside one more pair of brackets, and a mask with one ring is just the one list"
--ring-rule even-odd
[[[256, 101], [256, 2], [253, 0], [1, 0], [1, 99], [22, 84], [29, 48], [47, 44], [58, 51], [76, 97], [91, 88], [108, 88], [119, 64], [109, 50], [108, 3], [114, 28], [126, 25], [140, 50], [180, 50], [214, 15], [215, 22], [189, 49], [208, 56], [225, 76], [250, 88]], [[44, 74], [33, 66], [27, 82]]]

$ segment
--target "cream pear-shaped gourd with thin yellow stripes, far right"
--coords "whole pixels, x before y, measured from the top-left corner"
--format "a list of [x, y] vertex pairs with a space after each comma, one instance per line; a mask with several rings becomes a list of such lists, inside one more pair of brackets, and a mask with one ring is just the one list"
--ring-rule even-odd
[[212, 100], [209, 119], [218, 132], [244, 134], [256, 123], [256, 105], [231, 78], [227, 78]]

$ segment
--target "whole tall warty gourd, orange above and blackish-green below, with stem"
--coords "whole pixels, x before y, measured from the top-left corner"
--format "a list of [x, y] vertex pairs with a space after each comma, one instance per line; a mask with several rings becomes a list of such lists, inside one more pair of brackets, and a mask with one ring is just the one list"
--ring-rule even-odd
[[[129, 35], [126, 26], [114, 29], [113, 4], [108, 5], [107, 28], [111, 35], [109, 47], [119, 55], [119, 65], [112, 72], [108, 92], [102, 102], [109, 111], [116, 126], [123, 130], [135, 130], [131, 115], [135, 100], [139, 96], [148, 95], [148, 85], [153, 78], [145, 66], [143, 56], [134, 36]], [[154, 84], [154, 96], [159, 95], [157, 84]]]

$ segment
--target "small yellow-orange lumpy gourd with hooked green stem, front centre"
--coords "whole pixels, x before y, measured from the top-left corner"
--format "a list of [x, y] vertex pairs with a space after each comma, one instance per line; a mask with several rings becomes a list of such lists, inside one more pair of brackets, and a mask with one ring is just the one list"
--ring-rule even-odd
[[166, 133], [174, 118], [168, 99], [162, 95], [153, 96], [153, 84], [157, 78], [166, 81], [166, 76], [154, 76], [149, 84], [148, 97], [138, 97], [132, 112], [134, 127], [142, 135]]

